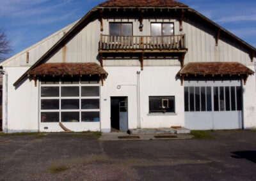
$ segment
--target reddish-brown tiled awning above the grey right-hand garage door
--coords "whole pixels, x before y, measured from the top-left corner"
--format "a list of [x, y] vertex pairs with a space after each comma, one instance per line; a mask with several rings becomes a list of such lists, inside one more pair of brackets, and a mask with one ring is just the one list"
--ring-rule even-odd
[[254, 71], [239, 62], [191, 62], [179, 75], [253, 75]]

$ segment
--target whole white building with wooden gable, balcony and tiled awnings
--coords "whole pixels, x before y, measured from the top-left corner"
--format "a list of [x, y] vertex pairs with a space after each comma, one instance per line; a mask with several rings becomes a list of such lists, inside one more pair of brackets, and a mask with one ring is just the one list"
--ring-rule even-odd
[[185, 4], [106, 1], [0, 64], [3, 130], [253, 129], [255, 61]]

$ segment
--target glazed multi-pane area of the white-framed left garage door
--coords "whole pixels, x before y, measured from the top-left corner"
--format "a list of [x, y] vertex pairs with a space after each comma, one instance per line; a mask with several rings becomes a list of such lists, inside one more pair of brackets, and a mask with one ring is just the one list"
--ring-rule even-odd
[[99, 122], [99, 76], [41, 79], [41, 122]]

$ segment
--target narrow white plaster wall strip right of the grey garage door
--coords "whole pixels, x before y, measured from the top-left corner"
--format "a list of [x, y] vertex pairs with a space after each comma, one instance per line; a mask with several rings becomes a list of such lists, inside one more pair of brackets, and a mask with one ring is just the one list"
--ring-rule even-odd
[[[254, 66], [248, 67], [256, 71]], [[256, 76], [249, 76], [243, 87], [244, 129], [256, 129]]]

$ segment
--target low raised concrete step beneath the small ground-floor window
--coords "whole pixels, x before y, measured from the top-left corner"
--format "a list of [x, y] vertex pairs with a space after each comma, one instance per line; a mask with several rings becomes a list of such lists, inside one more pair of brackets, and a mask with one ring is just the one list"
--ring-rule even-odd
[[156, 128], [156, 129], [129, 129], [129, 134], [189, 134], [190, 129], [185, 127], [174, 129], [174, 128]]

